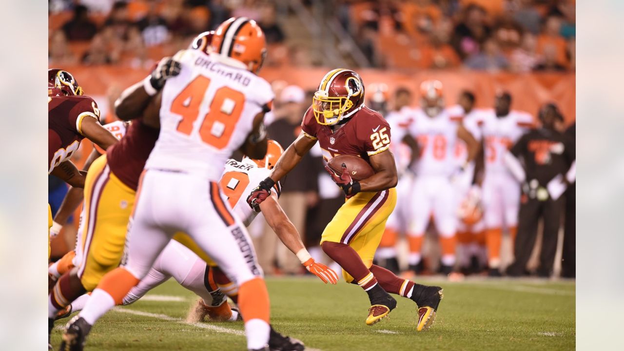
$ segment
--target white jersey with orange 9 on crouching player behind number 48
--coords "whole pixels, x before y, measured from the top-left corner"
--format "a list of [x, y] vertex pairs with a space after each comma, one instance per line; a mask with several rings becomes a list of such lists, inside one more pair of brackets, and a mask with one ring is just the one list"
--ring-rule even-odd
[[[249, 159], [242, 162], [229, 159], [225, 163], [225, 171], [220, 180], [221, 190], [227, 196], [234, 214], [243, 221], [245, 226], [250, 225], [258, 215], [258, 212], [247, 204], [247, 195], [270, 174], [269, 169], [260, 168]], [[279, 196], [280, 190], [280, 182], [277, 182], [273, 191]]]

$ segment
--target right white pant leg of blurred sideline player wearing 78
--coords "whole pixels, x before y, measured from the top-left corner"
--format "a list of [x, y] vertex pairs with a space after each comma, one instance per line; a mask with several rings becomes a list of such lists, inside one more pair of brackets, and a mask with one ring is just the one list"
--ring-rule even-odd
[[436, 230], [442, 237], [452, 237], [457, 230], [456, 197], [449, 179], [440, 177], [432, 180], [433, 197], [432, 212]]

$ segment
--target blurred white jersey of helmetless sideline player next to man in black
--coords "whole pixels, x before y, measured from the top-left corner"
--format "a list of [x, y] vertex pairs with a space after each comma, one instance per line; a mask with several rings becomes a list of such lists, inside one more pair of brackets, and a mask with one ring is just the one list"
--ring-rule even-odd
[[534, 126], [533, 116], [527, 112], [510, 111], [507, 116], [497, 117], [494, 110], [487, 110], [479, 117], [479, 124], [485, 141], [485, 172], [508, 172], [503, 156]]

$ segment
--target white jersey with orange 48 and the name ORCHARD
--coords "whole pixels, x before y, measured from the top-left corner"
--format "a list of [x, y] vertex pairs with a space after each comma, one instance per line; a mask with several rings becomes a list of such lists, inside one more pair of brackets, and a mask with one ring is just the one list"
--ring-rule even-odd
[[269, 109], [273, 91], [261, 77], [202, 51], [182, 50], [174, 58], [182, 69], [162, 89], [160, 135], [145, 169], [217, 181], [255, 116]]

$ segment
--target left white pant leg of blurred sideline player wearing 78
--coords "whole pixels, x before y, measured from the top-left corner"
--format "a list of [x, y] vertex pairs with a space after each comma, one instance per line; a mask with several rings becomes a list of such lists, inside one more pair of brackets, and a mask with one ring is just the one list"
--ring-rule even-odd
[[411, 210], [409, 212], [409, 228], [407, 234], [422, 236], [429, 224], [429, 216], [432, 210], [432, 197], [427, 187], [431, 186], [429, 177], [416, 177], [411, 192]]

